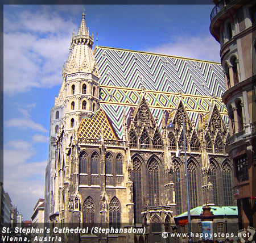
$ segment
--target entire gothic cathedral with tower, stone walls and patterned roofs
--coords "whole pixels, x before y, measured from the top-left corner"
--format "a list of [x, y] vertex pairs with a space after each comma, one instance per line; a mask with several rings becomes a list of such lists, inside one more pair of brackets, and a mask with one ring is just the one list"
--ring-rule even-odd
[[[183, 129], [191, 208], [205, 201], [233, 206], [224, 92], [216, 62], [93, 51], [83, 12], [51, 110], [45, 221], [59, 228], [101, 223], [147, 229], [143, 236], [58, 233], [68, 242], [152, 242], [170, 233], [174, 216], [187, 210]], [[174, 132], [167, 131], [170, 122]], [[202, 187], [209, 182], [207, 194]]]

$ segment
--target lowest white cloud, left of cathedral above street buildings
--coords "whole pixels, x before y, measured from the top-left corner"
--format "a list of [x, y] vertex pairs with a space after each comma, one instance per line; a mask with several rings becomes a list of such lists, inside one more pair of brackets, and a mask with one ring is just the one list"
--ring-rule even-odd
[[22, 140], [9, 141], [3, 150], [3, 186], [25, 220], [30, 220], [38, 198], [44, 198], [46, 161], [26, 162], [34, 154], [34, 148]]

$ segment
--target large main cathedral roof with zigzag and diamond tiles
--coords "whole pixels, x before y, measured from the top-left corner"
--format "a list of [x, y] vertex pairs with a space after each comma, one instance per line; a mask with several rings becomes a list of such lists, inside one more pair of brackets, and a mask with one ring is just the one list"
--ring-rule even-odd
[[227, 122], [221, 101], [225, 92], [221, 64], [109, 47], [96, 47], [94, 53], [101, 76], [101, 107], [112, 119], [119, 137], [123, 107], [128, 117], [142, 91], [154, 118], [162, 118], [163, 110], [171, 111], [181, 98], [189, 118], [197, 122], [199, 113], [209, 112], [214, 99]]

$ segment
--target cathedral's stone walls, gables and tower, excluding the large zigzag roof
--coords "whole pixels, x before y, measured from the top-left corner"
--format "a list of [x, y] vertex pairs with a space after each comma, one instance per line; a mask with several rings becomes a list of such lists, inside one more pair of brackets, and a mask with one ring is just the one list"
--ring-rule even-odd
[[[205, 200], [232, 206], [233, 169], [225, 152], [229, 132], [215, 98], [195, 124], [179, 94], [176, 110], [163, 109], [159, 127], [159, 118], [152, 115], [142, 87], [135, 110], [127, 115], [124, 108], [119, 118], [120, 138], [100, 104], [100, 76], [92, 45], [93, 35], [89, 36], [83, 13], [78, 34], [72, 35], [63, 84], [51, 110], [46, 222], [59, 228], [68, 223], [79, 227], [94, 223], [144, 226], [154, 234], [163, 228], [152, 225], [161, 223], [170, 232], [173, 217], [186, 210], [183, 129], [192, 207]], [[174, 132], [167, 131], [170, 122]], [[210, 181], [214, 190], [204, 193], [202, 186]], [[144, 242], [151, 240], [152, 234], [58, 236], [68, 242], [95, 242], [97, 238]]]

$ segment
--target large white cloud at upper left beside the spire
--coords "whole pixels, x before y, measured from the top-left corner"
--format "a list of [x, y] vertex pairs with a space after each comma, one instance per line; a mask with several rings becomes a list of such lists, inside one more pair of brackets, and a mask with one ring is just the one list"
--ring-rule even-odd
[[[3, 87], [8, 95], [31, 87], [52, 87], [61, 83], [71, 33], [75, 27], [56, 11], [4, 13]], [[18, 87], [18, 88], [17, 88]]]

